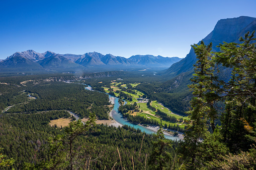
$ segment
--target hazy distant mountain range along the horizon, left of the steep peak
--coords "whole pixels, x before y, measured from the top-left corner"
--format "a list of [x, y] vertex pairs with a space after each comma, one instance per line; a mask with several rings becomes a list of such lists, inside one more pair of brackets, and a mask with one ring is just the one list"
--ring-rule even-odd
[[0, 71], [5, 70], [83, 70], [101, 68], [119, 68], [124, 67], [165, 67], [180, 61], [178, 57], [162, 57], [152, 55], [135, 55], [130, 58], [113, 56], [111, 54], [103, 55], [93, 52], [83, 55], [75, 54], [56, 54], [51, 51], [37, 53], [33, 50], [16, 52], [7, 59], [0, 61]]

